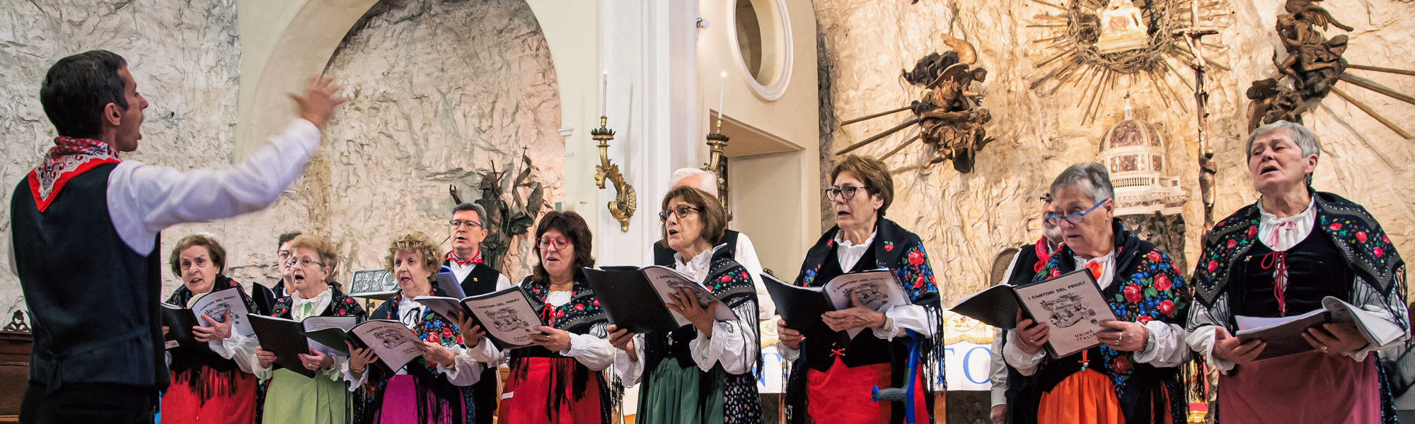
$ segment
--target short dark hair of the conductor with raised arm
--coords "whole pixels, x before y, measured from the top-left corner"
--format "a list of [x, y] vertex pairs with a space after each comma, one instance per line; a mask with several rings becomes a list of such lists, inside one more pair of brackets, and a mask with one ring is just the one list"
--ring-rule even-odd
[[40, 83], [40, 103], [59, 136], [98, 139], [108, 103], [127, 109], [127, 93], [119, 69], [123, 57], [92, 49], [59, 59]]

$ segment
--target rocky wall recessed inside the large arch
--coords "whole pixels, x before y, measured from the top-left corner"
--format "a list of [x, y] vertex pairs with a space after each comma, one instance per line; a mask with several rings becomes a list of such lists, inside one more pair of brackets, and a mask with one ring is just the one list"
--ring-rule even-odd
[[[463, 201], [481, 198], [481, 175], [492, 165], [525, 170], [522, 151], [545, 187], [546, 211], [565, 198], [555, 68], [524, 0], [382, 1], [345, 37], [328, 71], [350, 102], [317, 157], [327, 171], [300, 189], [327, 189], [313, 228], [340, 243], [348, 270], [382, 267], [388, 242], [406, 232], [446, 239], [449, 185]], [[497, 264], [516, 281], [535, 263], [526, 242], [533, 230]]]

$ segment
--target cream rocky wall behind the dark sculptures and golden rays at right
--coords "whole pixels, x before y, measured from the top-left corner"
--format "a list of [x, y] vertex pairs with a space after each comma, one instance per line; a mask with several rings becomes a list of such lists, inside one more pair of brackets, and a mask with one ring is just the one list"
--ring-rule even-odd
[[[1208, 1], [1206, 1], [1208, 3]], [[1184, 3], [1187, 7], [1187, 3]], [[1404, 17], [1415, 14], [1415, 6], [1395, 0], [1327, 0], [1323, 1], [1340, 21], [1357, 27], [1346, 58], [1353, 64], [1415, 69], [1415, 40], [1404, 25]], [[1210, 129], [1218, 164], [1218, 196], [1215, 219], [1223, 219], [1238, 208], [1257, 201], [1248, 177], [1242, 141], [1245, 137], [1244, 90], [1255, 79], [1275, 75], [1271, 64], [1274, 48], [1279, 48], [1274, 24], [1282, 1], [1225, 1], [1232, 13], [1231, 25], [1208, 41], [1224, 49], [1210, 48], [1211, 58], [1232, 66], [1232, 71], [1210, 73]], [[839, 120], [873, 112], [889, 110], [918, 98], [920, 90], [899, 75], [934, 51], [947, 51], [940, 33], [974, 42], [979, 65], [990, 71], [986, 106], [993, 113], [988, 136], [998, 140], [979, 154], [975, 171], [955, 172], [948, 163], [921, 168], [930, 154], [920, 146], [906, 148], [889, 158], [894, 168], [896, 204], [889, 218], [918, 233], [928, 249], [947, 304], [981, 290], [988, 283], [993, 257], [1005, 247], [1040, 237], [1041, 202], [1046, 191], [1063, 168], [1095, 160], [1101, 133], [1121, 120], [1122, 96], [1131, 92], [1136, 102], [1136, 117], [1152, 122], [1169, 140], [1169, 161], [1173, 174], [1190, 191], [1184, 206], [1187, 222], [1187, 263], [1196, 263], [1200, 243], [1203, 209], [1199, 201], [1197, 144], [1193, 98], [1189, 112], [1177, 106], [1166, 107], [1148, 82], [1121, 79], [1116, 89], [1102, 100], [1095, 123], [1081, 124], [1081, 89], [1071, 86], [1051, 96], [1029, 89], [1044, 75], [1033, 62], [1056, 54], [1044, 51], [1033, 40], [1050, 37], [1044, 28], [1027, 28], [1030, 18], [1049, 11], [1047, 6], [1026, 0], [1005, 1], [873, 1], [819, 0], [815, 3], [822, 31], [821, 52], [828, 72], [822, 85], [829, 85], [833, 105], [824, 116], [833, 116], [828, 129], [829, 146], [822, 154], [853, 144], [870, 134], [893, 127], [904, 114], [876, 119], [846, 127]], [[1056, 11], [1056, 10], [1050, 10]], [[1330, 35], [1339, 30], [1327, 31]], [[1285, 52], [1283, 52], [1285, 55]], [[1177, 64], [1176, 64], [1177, 65]], [[1179, 69], [1191, 79], [1187, 68]], [[1415, 92], [1415, 78], [1367, 71], [1350, 71], [1374, 79], [1395, 90]], [[824, 81], [829, 75], [829, 81]], [[1180, 96], [1189, 88], [1170, 76], [1169, 85]], [[1357, 99], [1367, 102], [1385, 117], [1407, 130], [1415, 130], [1415, 105], [1374, 95], [1361, 88], [1339, 83]], [[1315, 177], [1315, 187], [1365, 205], [1382, 223], [1397, 247], [1407, 256], [1415, 254], [1415, 146], [1365, 116], [1336, 95], [1315, 105], [1306, 123], [1323, 143], [1323, 158]], [[822, 133], [825, 137], [825, 134]], [[882, 155], [910, 134], [896, 134], [862, 148], [860, 154]], [[822, 172], [829, 168], [822, 167]], [[824, 213], [825, 226], [832, 225]]]

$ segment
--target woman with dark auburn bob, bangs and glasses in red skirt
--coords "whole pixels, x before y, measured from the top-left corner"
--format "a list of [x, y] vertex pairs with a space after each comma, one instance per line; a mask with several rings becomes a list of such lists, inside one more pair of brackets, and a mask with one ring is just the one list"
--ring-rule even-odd
[[[470, 317], [458, 318], [471, 356], [490, 367], [509, 362], [501, 389], [499, 424], [608, 424], [613, 397], [601, 370], [614, 360], [604, 339], [604, 310], [584, 280], [594, 266], [593, 236], [574, 212], [549, 212], [536, 225], [535, 271], [521, 291], [546, 325], [532, 328], [535, 346], [499, 351]], [[647, 423], [647, 421], [640, 421]]]

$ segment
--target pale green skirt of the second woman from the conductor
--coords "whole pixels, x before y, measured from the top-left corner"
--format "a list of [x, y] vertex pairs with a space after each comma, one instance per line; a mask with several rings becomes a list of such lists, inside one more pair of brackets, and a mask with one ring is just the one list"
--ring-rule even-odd
[[314, 375], [313, 379], [287, 369], [275, 370], [266, 391], [266, 424], [344, 424], [348, 423], [348, 383], [334, 376]]

